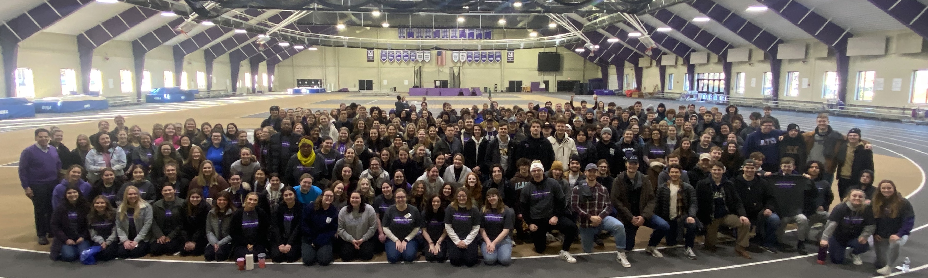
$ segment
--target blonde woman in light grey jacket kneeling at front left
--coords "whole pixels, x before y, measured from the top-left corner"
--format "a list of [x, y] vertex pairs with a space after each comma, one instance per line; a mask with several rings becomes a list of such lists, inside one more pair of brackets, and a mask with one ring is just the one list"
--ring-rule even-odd
[[142, 199], [138, 188], [126, 185], [122, 204], [116, 208], [116, 233], [119, 235], [120, 258], [141, 258], [148, 254], [153, 222], [152, 208]]

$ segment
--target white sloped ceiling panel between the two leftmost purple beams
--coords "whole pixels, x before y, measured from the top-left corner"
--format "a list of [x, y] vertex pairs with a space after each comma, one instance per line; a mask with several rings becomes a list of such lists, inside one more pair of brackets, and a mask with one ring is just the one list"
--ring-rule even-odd
[[87, 4], [86, 7], [74, 11], [70, 16], [58, 20], [58, 22], [48, 26], [48, 28], [45, 28], [43, 31], [48, 33], [77, 35], [90, 30], [90, 28], [103, 23], [103, 21], [110, 20], [112, 17], [119, 15], [119, 13], [130, 7], [135, 7], [135, 5], [125, 2], [99, 3], [95, 1]]

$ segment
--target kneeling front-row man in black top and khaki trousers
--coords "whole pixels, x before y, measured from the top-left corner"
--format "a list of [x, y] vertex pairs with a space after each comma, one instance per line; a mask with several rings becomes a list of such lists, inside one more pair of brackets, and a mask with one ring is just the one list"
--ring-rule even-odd
[[718, 226], [725, 225], [738, 229], [735, 253], [743, 258], [751, 258], [744, 248], [751, 232], [751, 220], [747, 218], [744, 205], [734, 184], [725, 179], [725, 165], [712, 163], [712, 176], [696, 183], [696, 204], [699, 205], [696, 216], [702, 223], [709, 223], [705, 228], [705, 250], [715, 252], [718, 243]]

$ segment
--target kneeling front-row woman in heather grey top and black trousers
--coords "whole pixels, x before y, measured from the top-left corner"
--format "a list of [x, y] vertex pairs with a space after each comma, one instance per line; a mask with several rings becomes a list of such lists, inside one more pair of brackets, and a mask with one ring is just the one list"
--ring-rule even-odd
[[348, 203], [339, 212], [338, 219], [342, 261], [370, 260], [374, 258], [375, 245], [370, 239], [377, 233], [377, 214], [360, 192], [352, 192]]

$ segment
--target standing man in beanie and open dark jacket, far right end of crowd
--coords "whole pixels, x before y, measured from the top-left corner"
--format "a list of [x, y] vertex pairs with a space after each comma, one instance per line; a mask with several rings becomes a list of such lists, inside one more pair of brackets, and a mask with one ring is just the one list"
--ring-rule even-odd
[[834, 158], [838, 177], [838, 195], [841, 199], [847, 190], [857, 184], [864, 170], [873, 171], [873, 150], [870, 142], [860, 139], [860, 128], [847, 131], [844, 141], [838, 145]]

